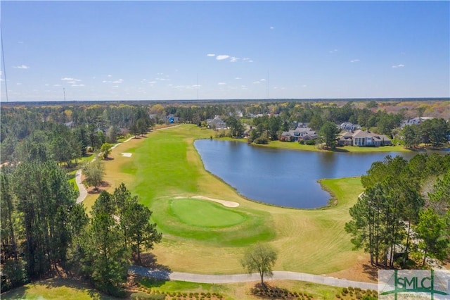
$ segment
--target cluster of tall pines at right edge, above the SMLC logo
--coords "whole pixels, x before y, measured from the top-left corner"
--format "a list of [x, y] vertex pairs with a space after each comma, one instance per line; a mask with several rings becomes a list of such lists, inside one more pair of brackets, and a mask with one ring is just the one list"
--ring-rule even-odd
[[450, 154], [387, 156], [361, 182], [345, 230], [373, 265], [424, 267], [449, 257]]

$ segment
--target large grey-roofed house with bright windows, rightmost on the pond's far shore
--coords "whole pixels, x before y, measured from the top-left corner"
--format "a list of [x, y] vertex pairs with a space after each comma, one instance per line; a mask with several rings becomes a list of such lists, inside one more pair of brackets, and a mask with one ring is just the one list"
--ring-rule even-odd
[[378, 135], [369, 131], [356, 130], [345, 132], [337, 139], [339, 146], [387, 146], [392, 141], [385, 135]]

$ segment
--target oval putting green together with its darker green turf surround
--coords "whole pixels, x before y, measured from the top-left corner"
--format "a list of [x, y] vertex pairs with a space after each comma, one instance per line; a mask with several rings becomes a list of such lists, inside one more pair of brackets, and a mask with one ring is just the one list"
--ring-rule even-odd
[[[189, 202], [193, 204], [192, 208], [186, 205]], [[161, 199], [154, 201], [150, 208], [158, 212], [153, 214], [153, 220], [163, 235], [179, 239], [192, 239], [214, 246], [245, 246], [275, 237], [269, 213], [243, 211], [240, 208], [233, 208], [232, 211], [219, 205], [202, 200]], [[195, 208], [203, 212], [194, 212]], [[207, 216], [207, 213], [216, 216]], [[227, 216], [231, 219], [227, 219]]]

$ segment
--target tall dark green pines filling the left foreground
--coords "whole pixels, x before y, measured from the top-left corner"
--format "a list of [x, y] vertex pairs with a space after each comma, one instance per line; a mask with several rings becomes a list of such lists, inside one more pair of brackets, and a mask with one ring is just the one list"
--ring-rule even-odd
[[124, 296], [129, 264], [160, 242], [151, 211], [124, 184], [102, 192], [89, 218], [54, 161], [4, 166], [0, 183], [1, 292], [66, 273]]

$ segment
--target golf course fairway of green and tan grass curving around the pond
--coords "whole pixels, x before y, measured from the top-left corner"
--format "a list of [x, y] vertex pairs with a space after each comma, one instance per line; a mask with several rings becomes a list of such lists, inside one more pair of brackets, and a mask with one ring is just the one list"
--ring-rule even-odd
[[[278, 251], [274, 270], [333, 275], [368, 261], [362, 251], [352, 251], [344, 230], [349, 208], [363, 192], [359, 177], [322, 180], [337, 200], [328, 208], [261, 204], [205, 170], [193, 142], [211, 135], [196, 125], [158, 129], [120, 144], [105, 161], [106, 189], [113, 192], [124, 182], [153, 211], [163, 237], [152, 250], [159, 264], [186, 273], [243, 273], [240, 259], [255, 242]], [[88, 209], [96, 196], [84, 201]], [[355, 276], [348, 279], [368, 281]]]

